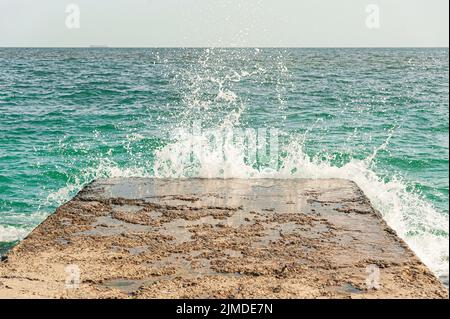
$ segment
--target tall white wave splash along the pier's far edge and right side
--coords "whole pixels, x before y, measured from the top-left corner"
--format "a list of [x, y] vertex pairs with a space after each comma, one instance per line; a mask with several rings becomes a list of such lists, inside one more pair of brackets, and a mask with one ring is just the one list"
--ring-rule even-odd
[[[249, 131], [242, 127], [241, 116], [247, 107], [245, 100], [227, 87], [232, 87], [234, 82], [243, 80], [245, 76], [256, 76], [261, 80], [268, 72], [267, 65], [261, 67], [253, 61], [258, 52], [253, 54], [249, 56], [246, 53], [238, 56], [246, 62], [243, 63], [243, 69], [220, 72], [221, 77], [216, 78], [208, 76], [211, 74], [217, 76], [215, 68], [224, 64], [224, 61], [222, 56], [217, 59], [214, 52], [208, 50], [206, 57], [200, 63], [202, 68], [187, 72], [186, 76], [190, 79], [190, 82], [187, 81], [188, 88], [194, 89], [185, 90], [185, 117], [180, 121], [182, 128], [178, 127], [176, 133], [171, 135], [172, 142], [156, 150], [154, 176], [352, 180], [359, 185], [386, 222], [410, 245], [422, 261], [438, 276], [448, 277], [448, 215], [436, 210], [419, 192], [414, 191], [414, 187], [411, 187], [412, 183], [402, 176], [390, 174], [382, 177], [377, 173], [377, 155], [389, 149], [390, 141], [398, 129], [397, 125], [387, 131], [384, 142], [374, 147], [370, 155], [361, 159], [352, 157], [350, 153], [349, 160], [343, 165], [334, 164], [329, 159], [333, 157], [332, 154], [328, 154], [329, 158], [324, 158], [308, 155], [305, 150], [308, 142], [314, 143], [310, 141], [309, 133], [323, 124], [322, 119], [316, 120], [303, 134], [278, 131], [278, 135], [273, 138], [277, 139], [277, 145], [278, 142], [280, 143], [280, 149], [277, 148], [275, 152], [272, 152], [271, 158], [265, 163], [262, 163], [259, 157], [249, 156], [249, 145], [258, 145], [258, 134], [254, 129]], [[236, 57], [231, 57], [233, 58]], [[271, 79], [276, 83], [274, 94], [281, 114], [286, 107], [283, 96], [290, 83], [290, 73], [284, 60], [282, 54], [275, 59], [276, 76]], [[252, 73], [245, 68], [253, 68], [256, 71]], [[199, 73], [205, 73], [208, 76], [198, 76]], [[218, 93], [214, 100], [205, 102], [204, 97], [198, 92], [211, 90], [208, 86], [210, 83], [218, 84], [216, 88]], [[225, 103], [217, 104], [219, 101]], [[207, 107], [199, 113], [198, 105], [207, 105]], [[218, 111], [215, 109], [217, 106], [221, 111], [226, 110], [225, 116], [219, 123], [212, 120]], [[201, 121], [198, 118], [201, 118]], [[282, 116], [282, 119], [285, 118]], [[202, 129], [204, 127], [206, 129]], [[239, 133], [236, 133], [237, 131]]]

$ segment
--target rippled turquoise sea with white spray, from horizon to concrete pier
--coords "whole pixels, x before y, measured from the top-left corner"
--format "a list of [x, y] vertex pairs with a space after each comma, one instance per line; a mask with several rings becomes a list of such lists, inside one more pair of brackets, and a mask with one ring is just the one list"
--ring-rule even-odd
[[[448, 281], [448, 71], [448, 49], [0, 49], [0, 250], [98, 177], [343, 177]], [[270, 165], [241, 128], [276, 129]]]

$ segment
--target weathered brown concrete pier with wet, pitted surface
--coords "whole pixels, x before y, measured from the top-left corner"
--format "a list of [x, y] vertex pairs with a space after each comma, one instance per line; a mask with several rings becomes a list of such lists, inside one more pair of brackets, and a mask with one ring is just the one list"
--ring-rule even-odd
[[[76, 289], [66, 285], [70, 264], [80, 269]], [[370, 265], [379, 267], [378, 289], [366, 285], [371, 273], [377, 282]], [[448, 292], [353, 182], [111, 179], [87, 186], [10, 251], [0, 264], [0, 297]]]

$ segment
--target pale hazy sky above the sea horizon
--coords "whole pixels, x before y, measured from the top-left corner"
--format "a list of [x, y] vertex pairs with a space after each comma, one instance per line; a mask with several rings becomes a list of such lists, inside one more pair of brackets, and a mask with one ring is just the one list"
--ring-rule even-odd
[[[79, 28], [66, 26], [68, 4]], [[0, 0], [0, 46], [448, 47], [448, 10], [449, 0]]]

